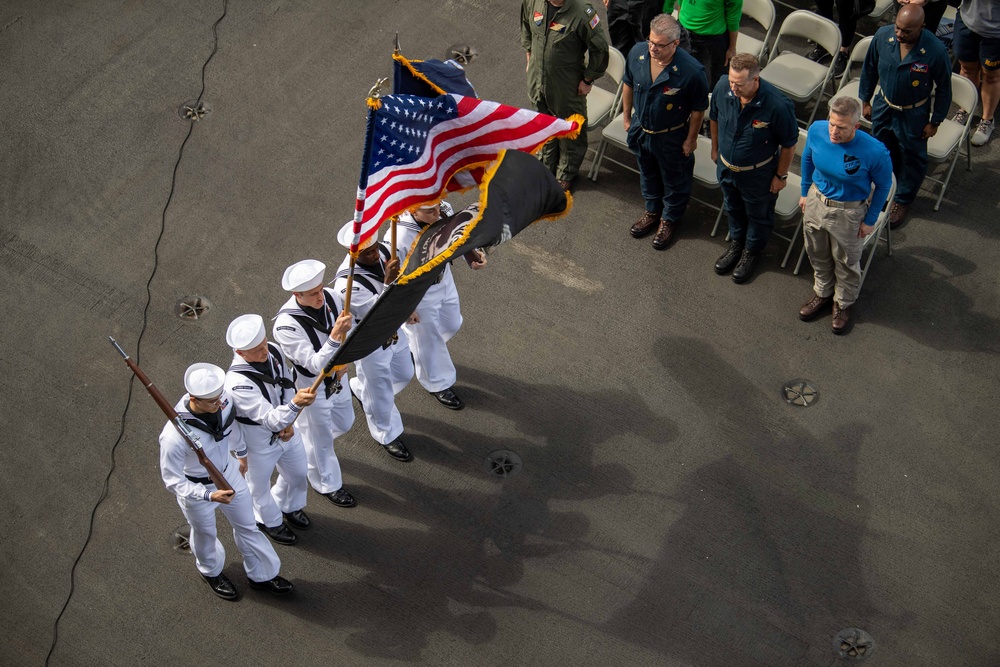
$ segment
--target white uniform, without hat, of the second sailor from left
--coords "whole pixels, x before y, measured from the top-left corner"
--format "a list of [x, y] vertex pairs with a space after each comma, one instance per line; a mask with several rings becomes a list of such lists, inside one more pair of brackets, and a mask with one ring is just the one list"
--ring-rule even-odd
[[[306, 506], [306, 450], [298, 430], [282, 442], [278, 432], [292, 423], [302, 410], [292, 403], [295, 371], [274, 343], [268, 343], [268, 360], [249, 364], [238, 354], [226, 373], [226, 393], [236, 407], [236, 421], [242, 424], [247, 448], [247, 486], [259, 523], [268, 528], [281, 525], [282, 512]], [[305, 416], [303, 415], [303, 418]], [[271, 474], [278, 479], [271, 486]]]

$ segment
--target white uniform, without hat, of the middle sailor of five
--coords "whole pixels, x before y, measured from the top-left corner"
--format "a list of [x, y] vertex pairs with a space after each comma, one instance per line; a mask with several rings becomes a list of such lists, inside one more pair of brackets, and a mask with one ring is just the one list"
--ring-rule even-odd
[[[302, 309], [292, 295], [274, 318], [273, 339], [298, 371], [296, 386], [310, 387], [323, 372], [340, 343], [330, 340], [342, 304], [330, 289], [323, 290], [326, 303], [317, 315]], [[311, 310], [311, 309], [310, 309]], [[346, 379], [346, 378], [345, 378]], [[344, 485], [334, 441], [354, 425], [351, 394], [333, 376], [324, 380], [316, 400], [297, 422], [309, 460], [309, 483], [322, 494], [334, 493]]]

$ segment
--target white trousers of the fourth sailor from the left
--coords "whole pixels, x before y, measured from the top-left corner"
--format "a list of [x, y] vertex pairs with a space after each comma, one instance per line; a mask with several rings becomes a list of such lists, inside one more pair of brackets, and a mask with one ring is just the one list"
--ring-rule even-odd
[[396, 407], [396, 394], [413, 377], [413, 360], [406, 334], [401, 333], [395, 345], [379, 348], [354, 363], [358, 371], [351, 383], [365, 410], [368, 430], [375, 441], [388, 445], [403, 433], [403, 418]]

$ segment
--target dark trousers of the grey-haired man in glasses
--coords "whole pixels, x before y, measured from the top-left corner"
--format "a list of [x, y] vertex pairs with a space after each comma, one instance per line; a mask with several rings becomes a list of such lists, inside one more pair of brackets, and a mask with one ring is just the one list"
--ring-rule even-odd
[[685, 125], [663, 134], [647, 134], [636, 128], [629, 136], [629, 147], [639, 163], [639, 190], [646, 210], [671, 222], [684, 217], [691, 200], [694, 153], [684, 157], [681, 150], [687, 133]]

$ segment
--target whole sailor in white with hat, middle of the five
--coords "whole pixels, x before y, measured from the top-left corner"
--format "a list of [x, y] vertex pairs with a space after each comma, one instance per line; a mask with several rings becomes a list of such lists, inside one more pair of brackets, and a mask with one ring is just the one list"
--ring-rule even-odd
[[[285, 357], [298, 371], [300, 389], [312, 385], [333, 358], [351, 328], [351, 316], [333, 290], [323, 287], [326, 264], [304, 259], [285, 269], [281, 286], [292, 296], [278, 311], [271, 330]], [[333, 445], [354, 425], [351, 394], [341, 379], [345, 370], [328, 376], [316, 401], [296, 422], [309, 461], [309, 484], [338, 507], [352, 507], [354, 496], [344, 488], [340, 460]]]

